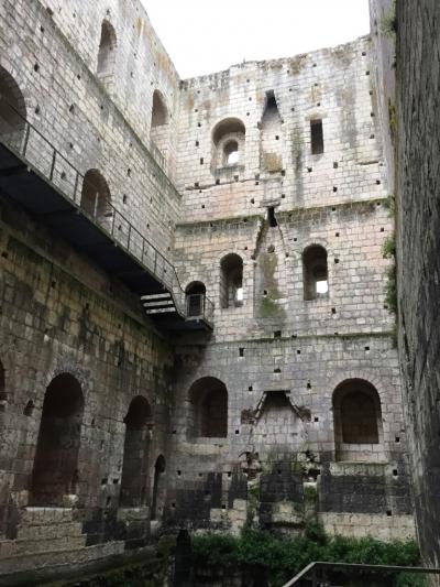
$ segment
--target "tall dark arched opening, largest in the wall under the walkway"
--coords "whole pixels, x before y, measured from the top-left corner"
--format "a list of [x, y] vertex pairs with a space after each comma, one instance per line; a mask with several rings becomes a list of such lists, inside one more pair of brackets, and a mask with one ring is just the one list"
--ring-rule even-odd
[[84, 412], [80, 384], [69, 373], [57, 376], [44, 395], [32, 479], [36, 506], [63, 506], [78, 491], [78, 452]]

